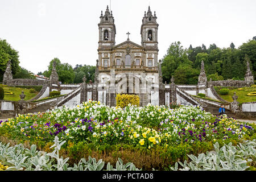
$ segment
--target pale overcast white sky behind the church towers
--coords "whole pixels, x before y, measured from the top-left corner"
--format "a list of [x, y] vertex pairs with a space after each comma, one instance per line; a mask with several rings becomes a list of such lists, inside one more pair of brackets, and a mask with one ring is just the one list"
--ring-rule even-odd
[[[20, 66], [45, 71], [54, 57], [61, 63], [96, 65], [98, 23], [109, 0], [0, 0], [0, 38], [19, 52]], [[256, 36], [255, 0], [112, 0], [115, 44], [141, 44], [148, 5], [159, 24], [158, 59], [172, 42], [188, 48], [215, 43], [236, 47]]]

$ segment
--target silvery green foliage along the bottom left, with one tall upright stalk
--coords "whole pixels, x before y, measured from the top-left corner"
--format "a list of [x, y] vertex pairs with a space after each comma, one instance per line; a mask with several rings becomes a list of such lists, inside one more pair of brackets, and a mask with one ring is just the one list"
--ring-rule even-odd
[[[58, 137], [53, 140], [53, 152], [47, 153], [36, 150], [33, 144], [30, 149], [24, 148], [23, 144], [17, 144], [10, 147], [10, 143], [2, 144], [0, 142], [0, 162], [8, 167], [7, 171], [101, 171], [105, 162], [102, 159], [97, 160], [89, 156], [86, 160], [82, 158], [78, 164], [68, 167], [68, 159], [59, 156], [59, 150], [65, 141], [59, 141]], [[57, 163], [57, 164], [56, 164]], [[122, 159], [118, 158], [115, 168], [110, 163], [107, 164], [108, 171], [138, 171], [139, 169], [133, 163], [123, 164]], [[142, 170], [142, 169], [140, 169]]]

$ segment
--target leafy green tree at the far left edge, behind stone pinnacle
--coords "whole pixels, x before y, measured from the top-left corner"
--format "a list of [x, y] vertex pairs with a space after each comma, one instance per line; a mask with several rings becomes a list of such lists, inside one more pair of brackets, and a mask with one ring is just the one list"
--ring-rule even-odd
[[0, 81], [3, 80], [3, 74], [5, 73], [6, 64], [9, 59], [11, 60], [11, 71], [13, 75], [20, 71], [18, 53], [5, 39], [0, 39]]

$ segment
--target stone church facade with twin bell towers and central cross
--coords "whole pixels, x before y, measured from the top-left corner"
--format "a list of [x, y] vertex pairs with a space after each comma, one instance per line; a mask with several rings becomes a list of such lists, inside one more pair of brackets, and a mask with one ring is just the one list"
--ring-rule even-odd
[[[95, 81], [98, 100], [115, 106], [116, 94], [136, 94], [140, 105], [159, 105], [159, 83], [162, 73], [158, 63], [158, 23], [150, 7], [144, 12], [141, 25], [141, 44], [115, 44], [116, 28], [112, 11], [107, 6], [98, 23], [98, 60]], [[159, 76], [160, 72], [160, 76]]]

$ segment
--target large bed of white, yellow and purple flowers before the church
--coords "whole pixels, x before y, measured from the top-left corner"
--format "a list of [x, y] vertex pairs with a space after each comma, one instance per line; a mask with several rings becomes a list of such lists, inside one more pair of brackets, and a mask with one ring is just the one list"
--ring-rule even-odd
[[[170, 109], [147, 105], [121, 109], [96, 101], [0, 121], [0, 133], [12, 134], [13, 138], [23, 142], [41, 142], [45, 147], [55, 136], [64, 139], [68, 153], [77, 155], [76, 158], [81, 157], [80, 153], [92, 154], [92, 150], [100, 150], [115, 158], [125, 155], [126, 151], [133, 154], [138, 151], [150, 159], [156, 158], [152, 154], [159, 156], [159, 168], [166, 165], [166, 160], [185, 159], [187, 152], [209, 150], [216, 141], [236, 143], [253, 138], [254, 127], [226, 115], [214, 117], [194, 106]], [[93, 154], [98, 155], [96, 153]], [[130, 159], [131, 156], [127, 153], [126, 157]], [[134, 163], [135, 166], [142, 165]], [[142, 167], [148, 169], [152, 165]]]

